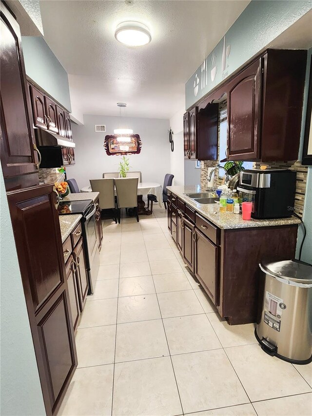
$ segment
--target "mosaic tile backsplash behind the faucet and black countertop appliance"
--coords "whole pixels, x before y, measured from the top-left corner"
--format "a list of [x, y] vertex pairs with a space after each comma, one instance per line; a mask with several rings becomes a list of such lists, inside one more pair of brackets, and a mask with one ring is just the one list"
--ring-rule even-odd
[[[201, 161], [201, 168], [200, 168], [200, 185], [206, 189], [207, 187], [207, 179], [208, 179], [208, 168], [214, 167], [218, 164], [218, 161], [210, 161], [210, 160], [202, 160]], [[308, 175], [308, 166], [304, 166], [301, 164], [300, 160], [295, 162], [267, 162], [267, 163], [260, 163], [254, 162], [254, 169], [260, 167], [260, 165], [266, 165], [272, 169], [290, 169], [292, 171], [297, 172], [297, 183], [296, 183], [296, 193], [295, 193], [295, 201], [294, 201], [294, 209], [295, 213], [302, 217], [303, 214], [303, 207], [304, 207], [304, 198], [306, 193], [306, 186], [307, 186], [307, 175]], [[215, 171], [215, 180], [214, 186], [217, 187], [221, 185], [223, 182], [222, 179], [218, 177], [218, 170]]]

